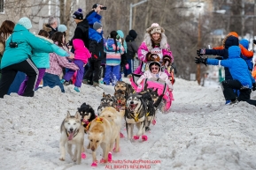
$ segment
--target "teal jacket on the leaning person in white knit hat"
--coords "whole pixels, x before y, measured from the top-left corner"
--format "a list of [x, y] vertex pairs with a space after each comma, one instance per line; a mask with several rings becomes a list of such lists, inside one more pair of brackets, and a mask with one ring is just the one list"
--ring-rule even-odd
[[[9, 43], [17, 42], [18, 48], [11, 48]], [[44, 53], [52, 53], [54, 49], [50, 42], [41, 40], [30, 33], [24, 26], [17, 24], [12, 35], [7, 39], [4, 55], [1, 62], [1, 69], [9, 65], [20, 63], [32, 56], [32, 50], [38, 49]]]

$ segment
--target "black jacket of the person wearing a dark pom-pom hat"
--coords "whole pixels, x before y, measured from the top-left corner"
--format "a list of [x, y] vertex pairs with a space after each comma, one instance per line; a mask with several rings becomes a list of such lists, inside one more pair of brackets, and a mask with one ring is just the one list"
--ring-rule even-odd
[[86, 18], [77, 24], [74, 30], [74, 36], [69, 45], [73, 46], [74, 39], [82, 40], [85, 47], [89, 48], [89, 24]]

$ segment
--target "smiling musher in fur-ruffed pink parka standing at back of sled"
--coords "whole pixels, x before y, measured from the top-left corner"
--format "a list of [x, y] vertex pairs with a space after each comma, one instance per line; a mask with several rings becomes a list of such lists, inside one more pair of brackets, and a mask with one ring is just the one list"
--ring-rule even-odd
[[141, 64], [134, 71], [134, 73], [143, 74], [145, 63], [148, 62], [146, 59], [146, 55], [148, 53], [159, 55], [160, 63], [164, 62], [164, 57], [169, 57], [172, 63], [174, 62], [172, 51], [167, 44], [167, 36], [165, 34], [165, 30], [157, 23], [153, 23], [151, 27], [146, 29], [144, 41], [138, 48], [137, 52], [138, 59], [141, 60]]

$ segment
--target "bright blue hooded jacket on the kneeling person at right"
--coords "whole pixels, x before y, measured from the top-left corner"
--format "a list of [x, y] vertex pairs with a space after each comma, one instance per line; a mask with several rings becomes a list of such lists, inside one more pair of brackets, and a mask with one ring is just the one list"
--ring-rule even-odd
[[206, 63], [210, 65], [221, 65], [229, 68], [233, 79], [237, 79], [244, 88], [252, 89], [252, 84], [255, 83], [255, 80], [252, 78], [244, 59], [240, 57], [241, 49], [238, 46], [232, 46], [229, 48], [228, 52], [229, 58], [227, 60], [208, 58]]

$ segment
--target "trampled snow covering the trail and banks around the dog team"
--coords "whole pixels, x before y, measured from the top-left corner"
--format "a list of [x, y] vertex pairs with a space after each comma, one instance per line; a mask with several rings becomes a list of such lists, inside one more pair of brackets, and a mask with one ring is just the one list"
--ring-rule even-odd
[[[256, 107], [245, 102], [225, 106], [220, 87], [179, 78], [171, 110], [167, 115], [157, 113], [148, 141], [121, 138], [120, 152], [112, 154], [115, 163], [94, 168], [89, 150], [81, 165], [67, 154], [66, 161], [60, 161], [59, 127], [66, 111], [74, 115], [83, 102], [97, 109], [102, 92], [113, 93], [112, 86], [101, 87], [104, 90], [82, 85], [80, 93], [73, 85], [66, 93], [46, 87], [34, 98], [12, 93], [0, 99], [0, 169], [256, 169]], [[121, 131], [127, 136], [124, 127]], [[97, 149], [97, 159], [101, 153]]]

